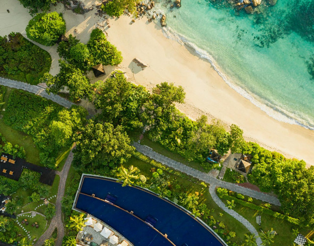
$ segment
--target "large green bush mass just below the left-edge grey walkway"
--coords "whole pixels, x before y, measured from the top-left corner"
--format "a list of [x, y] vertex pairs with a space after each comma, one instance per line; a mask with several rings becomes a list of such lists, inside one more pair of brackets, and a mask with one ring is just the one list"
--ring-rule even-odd
[[83, 125], [86, 115], [82, 107], [65, 109], [41, 96], [13, 90], [3, 120], [31, 135], [41, 151], [41, 163], [55, 168], [58, 151], [72, 144], [73, 134]]

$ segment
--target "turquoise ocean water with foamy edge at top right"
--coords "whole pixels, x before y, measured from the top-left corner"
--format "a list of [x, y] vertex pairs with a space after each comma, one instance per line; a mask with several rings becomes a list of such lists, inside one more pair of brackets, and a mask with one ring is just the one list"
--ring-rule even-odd
[[224, 80], [277, 120], [314, 129], [314, 0], [266, 0], [258, 13], [227, 0], [182, 0], [165, 13], [169, 38], [193, 47]]

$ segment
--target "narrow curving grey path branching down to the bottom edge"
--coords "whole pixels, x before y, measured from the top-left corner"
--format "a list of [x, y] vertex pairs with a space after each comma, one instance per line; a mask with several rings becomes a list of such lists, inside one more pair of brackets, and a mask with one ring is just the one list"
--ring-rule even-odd
[[236, 220], [240, 221], [252, 234], [256, 235], [256, 243], [258, 246], [262, 246], [262, 240], [259, 237], [259, 234], [257, 232], [257, 230], [254, 228], [254, 226], [244, 217], [242, 217], [241, 215], [239, 215], [238, 213], [236, 213], [234, 210], [232, 209], [228, 209], [227, 206], [219, 199], [219, 197], [217, 196], [216, 192], [215, 192], [215, 185], [210, 185], [209, 186], [209, 193], [212, 197], [212, 199], [214, 200], [214, 202], [226, 213], [228, 213], [229, 215], [233, 216]]

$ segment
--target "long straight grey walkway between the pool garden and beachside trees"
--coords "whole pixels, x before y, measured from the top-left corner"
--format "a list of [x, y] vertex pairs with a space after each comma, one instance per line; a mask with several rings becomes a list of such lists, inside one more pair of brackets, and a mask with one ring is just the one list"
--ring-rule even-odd
[[271, 196], [271, 195], [268, 195], [268, 194], [265, 194], [263, 192], [259, 192], [259, 191], [256, 191], [256, 190], [252, 190], [252, 189], [249, 189], [249, 188], [246, 188], [246, 187], [242, 187], [242, 186], [239, 186], [237, 184], [233, 184], [233, 183], [228, 183], [228, 182], [225, 182], [225, 181], [221, 181], [221, 180], [218, 180], [216, 179], [216, 177], [214, 177], [213, 175], [211, 175], [210, 173], [207, 174], [207, 173], [203, 173], [201, 171], [198, 171], [194, 168], [191, 168], [191, 167], [188, 167], [178, 161], [175, 161], [173, 159], [170, 159], [162, 154], [158, 154], [156, 153], [155, 151], [153, 151], [151, 148], [145, 146], [145, 145], [140, 145], [138, 143], [133, 143], [133, 146], [136, 148], [136, 150], [142, 154], [145, 154], [147, 155], [148, 157], [166, 165], [166, 166], [169, 166], [169, 167], [172, 167], [176, 170], [179, 170], [183, 173], [186, 173], [190, 176], [193, 176], [199, 180], [202, 180], [206, 183], [209, 183], [209, 184], [214, 184], [216, 186], [220, 186], [220, 187], [223, 187], [223, 188], [226, 188], [226, 189], [230, 189], [230, 190], [233, 190], [237, 193], [241, 193], [243, 195], [247, 195], [247, 196], [250, 196], [250, 197], [253, 197], [253, 198], [256, 198], [256, 199], [259, 199], [259, 200], [262, 200], [264, 202], [268, 202], [268, 203], [271, 203], [271, 204], [274, 204], [274, 205], [277, 205], [277, 206], [280, 206], [280, 202], [278, 200], [277, 197], [274, 197], [274, 196]]

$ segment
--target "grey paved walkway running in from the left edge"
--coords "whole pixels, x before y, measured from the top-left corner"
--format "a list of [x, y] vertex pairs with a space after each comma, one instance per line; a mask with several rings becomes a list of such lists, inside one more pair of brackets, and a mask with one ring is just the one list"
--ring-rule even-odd
[[0, 77], [0, 85], [11, 87], [11, 88], [16, 88], [16, 89], [21, 89], [21, 90], [24, 90], [27, 92], [34, 93], [36, 95], [40, 95], [42, 97], [45, 97], [49, 100], [52, 100], [53, 102], [56, 102], [56, 103], [62, 105], [63, 107], [66, 107], [66, 108], [70, 108], [72, 105], [74, 105], [73, 102], [70, 102], [61, 96], [54, 95], [52, 93], [49, 95], [45, 91], [45, 88], [43, 88], [41, 86], [33, 86], [33, 85], [26, 84], [24, 82], [10, 80], [10, 79], [4, 79], [1, 77]]

